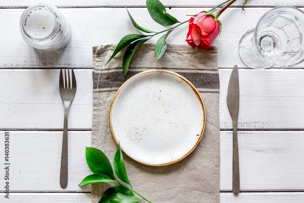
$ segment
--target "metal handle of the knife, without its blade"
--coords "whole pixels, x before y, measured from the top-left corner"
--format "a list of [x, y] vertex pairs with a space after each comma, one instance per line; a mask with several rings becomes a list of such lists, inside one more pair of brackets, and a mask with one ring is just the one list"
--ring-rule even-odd
[[240, 192], [239, 149], [237, 145], [237, 122], [233, 122], [233, 168], [232, 168], [232, 191]]

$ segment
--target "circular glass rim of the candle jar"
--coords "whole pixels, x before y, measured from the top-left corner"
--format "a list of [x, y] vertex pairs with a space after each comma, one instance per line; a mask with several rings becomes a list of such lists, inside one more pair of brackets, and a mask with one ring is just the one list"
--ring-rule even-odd
[[[31, 12], [35, 8], [45, 8], [45, 7], [47, 7], [48, 9], [51, 10], [51, 12], [53, 13], [54, 19], [55, 19], [55, 25], [54, 25], [52, 32], [49, 35], [47, 35], [46, 37], [42, 37], [42, 38], [36, 38], [36, 37], [30, 36], [25, 31], [25, 28], [24, 28], [24, 21], [26, 19], [26, 16], [29, 14], [29, 12]], [[34, 4], [34, 5], [27, 7], [24, 10], [24, 12], [22, 13], [21, 18], [20, 18], [20, 32], [22, 33], [22, 35], [23, 36], [25, 35], [27, 38], [29, 38], [30, 40], [33, 40], [33, 41], [45, 41], [45, 40], [50, 39], [56, 33], [56, 30], [57, 30], [56, 25], [58, 25], [58, 20], [54, 15], [54, 13], [57, 13], [57, 12], [52, 7], [53, 7], [53, 5], [47, 4], [47, 3], [38, 3], [38, 4]]]

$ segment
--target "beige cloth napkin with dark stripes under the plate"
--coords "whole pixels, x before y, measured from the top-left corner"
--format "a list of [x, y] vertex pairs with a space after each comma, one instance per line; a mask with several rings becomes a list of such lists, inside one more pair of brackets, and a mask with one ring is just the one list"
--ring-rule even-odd
[[[199, 90], [206, 107], [205, 133], [185, 159], [168, 166], [146, 166], [124, 154], [133, 189], [154, 203], [219, 202], [219, 74], [217, 48], [193, 49], [169, 44], [167, 53], [154, 64], [155, 44], [143, 44], [123, 76], [124, 51], [111, 57], [116, 45], [93, 47], [92, 147], [102, 150], [113, 164], [117, 144], [109, 126], [109, 109], [118, 88], [131, 76], [150, 69], [166, 69], [187, 78]], [[92, 203], [111, 184], [92, 185]], [[145, 201], [140, 201], [145, 202]]]

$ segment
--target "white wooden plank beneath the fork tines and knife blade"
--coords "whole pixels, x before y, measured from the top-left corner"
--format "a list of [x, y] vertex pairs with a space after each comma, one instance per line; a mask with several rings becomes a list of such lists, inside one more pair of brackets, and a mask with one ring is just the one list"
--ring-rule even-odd
[[[59, 69], [0, 70], [1, 129], [62, 129], [64, 106]], [[220, 69], [220, 128], [232, 129], [226, 103], [232, 69]], [[303, 129], [303, 69], [239, 69], [238, 128]], [[76, 69], [77, 92], [69, 112], [70, 129], [92, 128], [92, 70]], [[12, 91], [13, 90], [13, 91]], [[43, 113], [41, 113], [43, 112]], [[208, 116], [207, 109], [207, 116]]]

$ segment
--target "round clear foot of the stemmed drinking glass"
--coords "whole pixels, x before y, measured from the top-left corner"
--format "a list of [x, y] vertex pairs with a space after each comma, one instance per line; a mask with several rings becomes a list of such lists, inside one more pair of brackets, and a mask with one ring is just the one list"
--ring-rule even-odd
[[248, 30], [240, 39], [239, 43], [239, 54], [242, 61], [250, 68], [268, 68], [271, 64], [263, 61], [259, 56], [257, 56], [252, 47], [251, 39], [254, 34], [254, 28]]

